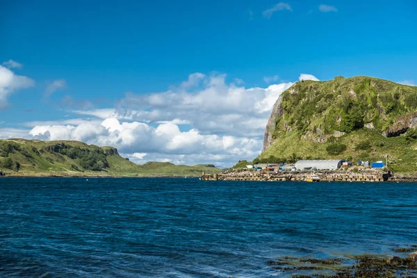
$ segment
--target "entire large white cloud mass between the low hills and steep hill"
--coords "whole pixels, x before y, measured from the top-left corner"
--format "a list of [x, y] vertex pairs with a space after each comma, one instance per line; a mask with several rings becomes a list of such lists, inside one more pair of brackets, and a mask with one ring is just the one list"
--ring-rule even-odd
[[[75, 110], [85, 118], [30, 122], [30, 138], [111, 145], [136, 163], [231, 166], [256, 157], [275, 101], [293, 82], [246, 88], [225, 74], [190, 74], [165, 92], [128, 92], [115, 108]], [[311, 74], [300, 79], [318, 80]]]

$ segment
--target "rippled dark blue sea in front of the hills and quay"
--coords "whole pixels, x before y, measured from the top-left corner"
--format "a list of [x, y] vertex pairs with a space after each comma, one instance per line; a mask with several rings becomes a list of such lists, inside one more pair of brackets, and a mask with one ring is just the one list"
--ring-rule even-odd
[[0, 277], [271, 277], [417, 244], [416, 183], [0, 179]]

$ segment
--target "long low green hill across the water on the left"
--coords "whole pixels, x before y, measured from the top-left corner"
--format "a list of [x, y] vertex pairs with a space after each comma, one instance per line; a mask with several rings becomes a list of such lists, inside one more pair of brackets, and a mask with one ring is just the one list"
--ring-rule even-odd
[[148, 162], [137, 165], [114, 147], [78, 141], [0, 140], [0, 171], [8, 175], [60, 176], [199, 176], [218, 173], [213, 165], [174, 165]]

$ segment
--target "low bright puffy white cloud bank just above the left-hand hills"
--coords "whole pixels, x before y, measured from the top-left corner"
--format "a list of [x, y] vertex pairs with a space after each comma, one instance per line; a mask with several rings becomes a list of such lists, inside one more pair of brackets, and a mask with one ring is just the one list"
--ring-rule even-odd
[[222, 155], [226, 158], [222, 163], [227, 165], [240, 159], [239, 156], [256, 156], [262, 147], [262, 141], [253, 138], [204, 135], [197, 129], [180, 131], [179, 126], [172, 123], [152, 127], [142, 122], [120, 122], [115, 118], [108, 118], [100, 124], [35, 126], [29, 135], [43, 140], [79, 140], [88, 144], [111, 145], [138, 160], [148, 154], [177, 160], [181, 156], [190, 158], [195, 155], [199, 158], [195, 158], [194, 163], [210, 163], [212, 157]]

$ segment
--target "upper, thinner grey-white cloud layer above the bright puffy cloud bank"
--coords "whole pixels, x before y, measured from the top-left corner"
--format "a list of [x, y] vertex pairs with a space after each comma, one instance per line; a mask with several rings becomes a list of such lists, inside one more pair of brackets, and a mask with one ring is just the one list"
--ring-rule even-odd
[[148, 95], [126, 94], [115, 111], [76, 111], [83, 115], [147, 123], [190, 124], [204, 134], [263, 136], [270, 110], [292, 82], [268, 88], [227, 83], [224, 74], [211, 74], [199, 85]]

